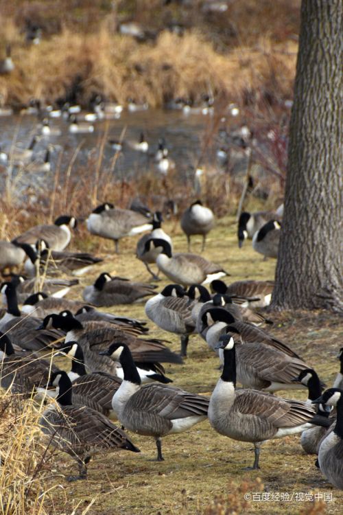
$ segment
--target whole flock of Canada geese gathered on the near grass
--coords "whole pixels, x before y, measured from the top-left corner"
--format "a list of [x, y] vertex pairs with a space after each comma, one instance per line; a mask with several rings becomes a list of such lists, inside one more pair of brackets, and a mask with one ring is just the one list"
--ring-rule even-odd
[[[252, 238], [257, 252], [276, 257], [282, 210], [242, 213], [239, 247]], [[252, 469], [259, 468], [263, 442], [301, 433], [305, 452], [318, 455], [324, 477], [342, 489], [343, 350], [333, 388], [323, 391], [313, 367], [265, 329], [270, 321], [259, 309], [270, 304], [273, 282], [226, 284], [222, 266], [190, 253], [191, 236], [201, 235], [202, 249], [206, 245], [215, 225], [211, 209], [196, 201], [182, 214], [188, 253], [174, 252], [161, 213], [139, 211], [104, 203], [89, 214], [86, 227], [113, 240], [117, 252], [121, 238], [146, 232], [136, 254], [152, 279], [163, 273], [171, 281], [160, 292], [156, 284], [101, 273], [84, 288], [82, 299], [66, 299], [78, 284], [75, 275], [102, 261], [65, 250], [78, 224], [73, 216], [0, 242], [3, 274], [23, 267], [29, 277], [12, 274], [1, 284], [6, 306], [0, 318], [1, 387], [21, 399], [32, 391], [38, 398], [56, 399], [48, 403], [40, 428], [49, 444], [77, 461], [79, 474], [70, 480], [86, 478], [95, 453], [139, 452], [126, 430], [154, 438], [162, 461], [164, 437], [208, 417], [217, 433], [254, 444]], [[60, 271], [73, 277], [61, 278]], [[137, 301], [145, 303], [147, 318], [158, 328], [180, 335], [180, 354], [166, 340], [151, 338], [146, 321], [97, 309]], [[171, 386], [165, 374], [163, 363], [182, 365], [191, 336], [206, 341], [219, 358], [220, 378], [210, 398]], [[44, 351], [69, 356], [71, 369], [58, 369], [41, 357]], [[307, 389], [307, 400], [275, 395], [286, 389]]]

